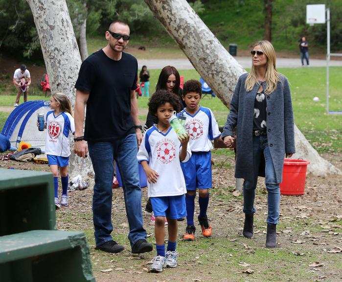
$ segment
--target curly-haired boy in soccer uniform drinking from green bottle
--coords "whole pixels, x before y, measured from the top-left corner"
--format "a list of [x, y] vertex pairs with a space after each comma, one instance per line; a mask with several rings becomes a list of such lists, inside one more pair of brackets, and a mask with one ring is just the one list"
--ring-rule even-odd
[[[151, 261], [150, 271], [161, 272], [165, 267], [177, 266], [177, 218], [186, 216], [186, 187], [180, 162], [186, 162], [191, 151], [189, 136], [183, 134], [178, 138], [169, 123], [173, 111], [180, 110], [179, 98], [171, 92], [159, 90], [152, 95], [148, 106], [150, 113], [157, 116], [158, 123], [145, 132], [137, 159], [147, 176], [148, 197], [156, 217], [157, 256]], [[166, 256], [165, 217], [169, 233]]]

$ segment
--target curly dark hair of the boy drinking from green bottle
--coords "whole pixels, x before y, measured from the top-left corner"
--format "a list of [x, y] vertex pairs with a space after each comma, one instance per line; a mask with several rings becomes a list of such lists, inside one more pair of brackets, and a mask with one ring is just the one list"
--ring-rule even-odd
[[157, 109], [165, 103], [170, 103], [173, 109], [178, 113], [181, 111], [180, 99], [176, 94], [167, 90], [156, 91], [148, 102], [148, 110], [153, 114], [157, 114]]

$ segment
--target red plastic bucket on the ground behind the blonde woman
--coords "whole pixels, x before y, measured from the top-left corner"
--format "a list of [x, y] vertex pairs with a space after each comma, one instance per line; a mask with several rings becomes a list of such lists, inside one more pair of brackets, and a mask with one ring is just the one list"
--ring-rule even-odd
[[305, 189], [306, 168], [310, 162], [285, 159], [283, 182], [280, 183], [281, 195], [303, 195]]

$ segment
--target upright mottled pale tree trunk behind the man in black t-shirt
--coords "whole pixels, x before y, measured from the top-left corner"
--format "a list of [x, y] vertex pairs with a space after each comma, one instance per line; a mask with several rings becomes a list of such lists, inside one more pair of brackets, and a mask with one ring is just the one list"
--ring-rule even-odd
[[[75, 82], [81, 66], [80, 53], [65, 0], [26, 0], [31, 8], [42, 47], [52, 92], [67, 94], [72, 107]], [[92, 173], [90, 158], [70, 156], [71, 176]]]

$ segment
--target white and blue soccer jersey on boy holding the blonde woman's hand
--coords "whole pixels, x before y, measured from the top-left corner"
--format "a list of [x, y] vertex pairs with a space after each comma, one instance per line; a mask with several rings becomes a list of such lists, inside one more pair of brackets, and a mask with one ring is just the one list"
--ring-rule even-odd
[[213, 149], [211, 141], [220, 137], [221, 132], [214, 114], [209, 108], [200, 106], [194, 115], [182, 110], [186, 117], [185, 129], [190, 135], [190, 146], [192, 152], [209, 152]]

